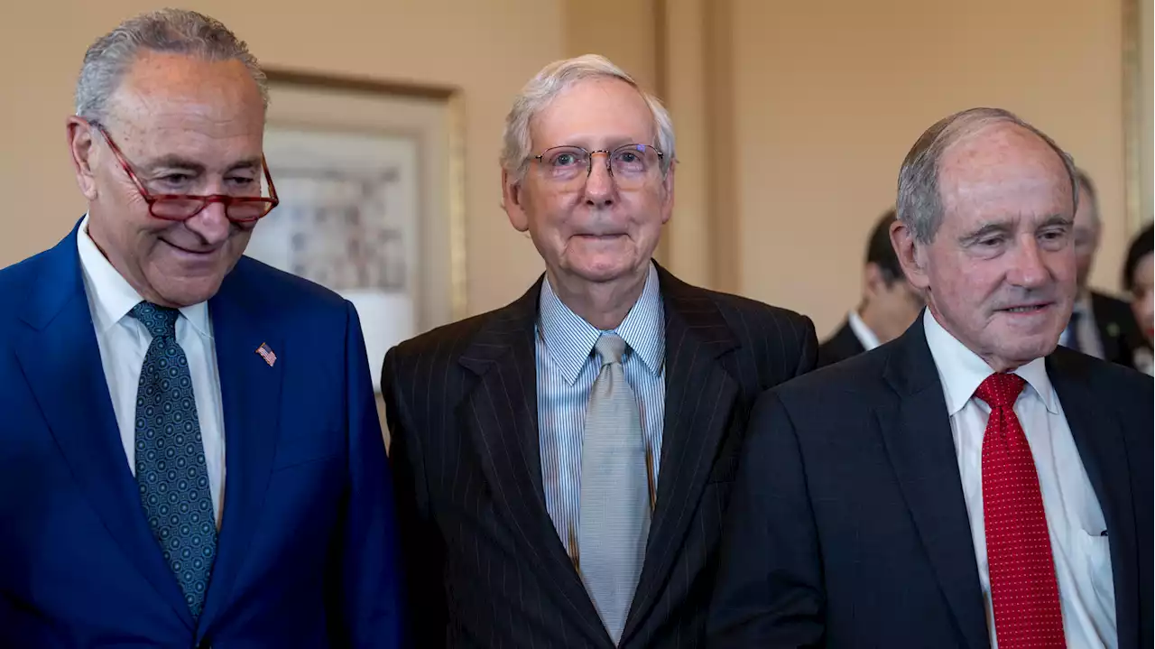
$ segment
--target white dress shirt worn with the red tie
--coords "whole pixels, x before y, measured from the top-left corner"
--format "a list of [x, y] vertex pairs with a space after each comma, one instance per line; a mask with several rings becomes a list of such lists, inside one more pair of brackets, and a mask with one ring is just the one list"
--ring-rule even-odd
[[[986, 627], [991, 647], [997, 648], [983, 523], [983, 434], [991, 409], [982, 400], [974, 398], [979, 383], [994, 372], [947, 333], [930, 309], [923, 314], [923, 326], [951, 416], [986, 606]], [[1118, 647], [1115, 581], [1103, 510], [1063, 415], [1063, 404], [1046, 375], [1044, 360], [1035, 359], [1014, 373], [1027, 381], [1014, 412], [1022, 424], [1038, 472], [1067, 647]]]

